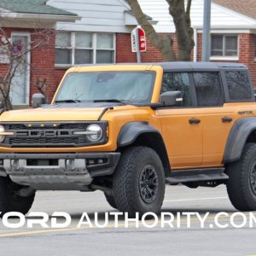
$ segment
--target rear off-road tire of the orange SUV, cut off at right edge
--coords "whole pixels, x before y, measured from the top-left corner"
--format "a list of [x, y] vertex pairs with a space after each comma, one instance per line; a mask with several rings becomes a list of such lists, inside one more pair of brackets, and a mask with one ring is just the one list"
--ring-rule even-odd
[[232, 205], [239, 211], [256, 210], [255, 168], [256, 144], [254, 143], [247, 143], [242, 151], [240, 160], [227, 166], [227, 174], [230, 177], [227, 181], [228, 195]]

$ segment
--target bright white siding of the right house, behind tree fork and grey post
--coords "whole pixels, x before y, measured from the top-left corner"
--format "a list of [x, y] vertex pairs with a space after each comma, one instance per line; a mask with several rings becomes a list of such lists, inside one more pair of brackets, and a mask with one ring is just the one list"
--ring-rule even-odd
[[[169, 15], [166, 0], [138, 0], [143, 12], [153, 20], [158, 20], [155, 26], [157, 32], [174, 32], [172, 17]], [[200, 28], [203, 24], [203, 0], [193, 0], [191, 7], [191, 23], [193, 27]], [[212, 3], [212, 28], [224, 27], [256, 28], [256, 20], [240, 15], [230, 9], [225, 9]]]

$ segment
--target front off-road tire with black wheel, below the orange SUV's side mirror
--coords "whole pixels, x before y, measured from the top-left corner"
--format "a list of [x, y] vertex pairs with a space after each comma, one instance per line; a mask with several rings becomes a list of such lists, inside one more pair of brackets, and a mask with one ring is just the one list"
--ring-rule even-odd
[[[149, 186], [151, 186], [151, 181], [154, 180], [154, 183], [157, 181], [157, 189], [153, 184], [150, 190], [155, 189], [155, 191], [149, 195], [150, 190], [144, 188], [146, 179], [143, 183], [143, 177], [146, 176], [143, 174], [151, 172], [154, 172], [154, 175], [151, 175], [151, 180], [147, 179], [147, 184], [149, 182]], [[145, 191], [148, 191], [148, 194], [144, 193]], [[147, 196], [151, 196], [150, 200], [145, 198]], [[132, 147], [126, 149], [122, 153], [113, 176], [113, 198], [117, 209], [121, 212], [128, 212], [129, 216], [135, 216], [136, 212], [140, 216], [145, 212], [160, 212], [164, 196], [165, 172], [159, 155], [152, 148]]]

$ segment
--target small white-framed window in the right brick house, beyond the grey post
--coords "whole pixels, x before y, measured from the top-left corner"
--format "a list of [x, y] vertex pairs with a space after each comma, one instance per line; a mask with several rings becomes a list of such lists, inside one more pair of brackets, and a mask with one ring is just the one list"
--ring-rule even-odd
[[237, 35], [212, 35], [211, 55], [213, 57], [237, 57]]

